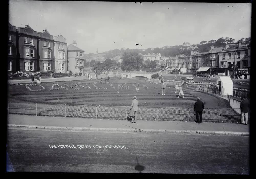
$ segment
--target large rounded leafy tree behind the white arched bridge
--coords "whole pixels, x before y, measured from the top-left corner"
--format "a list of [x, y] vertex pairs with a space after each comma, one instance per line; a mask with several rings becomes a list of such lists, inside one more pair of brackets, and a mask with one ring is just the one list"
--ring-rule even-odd
[[141, 66], [143, 65], [142, 56], [132, 51], [124, 52], [122, 56], [122, 60], [123, 60], [121, 63], [122, 71], [125, 71], [125, 70], [139, 71]]

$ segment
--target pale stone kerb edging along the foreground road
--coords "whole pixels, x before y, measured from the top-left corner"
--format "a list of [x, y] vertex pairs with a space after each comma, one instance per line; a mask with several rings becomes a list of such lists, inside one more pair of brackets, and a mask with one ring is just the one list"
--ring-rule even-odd
[[89, 128], [89, 127], [59, 127], [59, 126], [37, 126], [8, 124], [8, 128], [34, 128], [51, 130], [74, 130], [74, 131], [117, 131], [117, 132], [146, 132], [146, 133], [189, 133], [189, 134], [214, 134], [229, 136], [249, 136], [249, 132], [231, 131], [203, 131], [203, 130], [165, 130], [165, 129], [123, 129], [123, 128]]

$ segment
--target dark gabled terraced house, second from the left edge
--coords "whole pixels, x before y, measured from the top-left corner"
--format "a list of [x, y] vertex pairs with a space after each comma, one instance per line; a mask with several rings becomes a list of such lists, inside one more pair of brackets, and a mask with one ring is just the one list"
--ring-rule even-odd
[[24, 73], [38, 70], [37, 32], [29, 25], [17, 28], [17, 71]]

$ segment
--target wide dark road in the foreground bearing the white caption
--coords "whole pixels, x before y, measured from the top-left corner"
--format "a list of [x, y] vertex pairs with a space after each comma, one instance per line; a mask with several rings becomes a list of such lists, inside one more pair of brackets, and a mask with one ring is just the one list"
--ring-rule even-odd
[[245, 136], [8, 129], [7, 142], [22, 172], [249, 174]]

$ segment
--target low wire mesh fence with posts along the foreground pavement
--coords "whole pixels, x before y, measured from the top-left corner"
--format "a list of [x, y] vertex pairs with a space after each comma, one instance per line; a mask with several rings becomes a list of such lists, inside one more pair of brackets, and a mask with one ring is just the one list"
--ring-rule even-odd
[[[202, 112], [202, 117], [205, 122], [239, 123], [239, 110], [239, 108], [205, 108]], [[129, 111], [130, 106], [8, 103], [8, 113], [10, 114], [28, 114], [36, 116], [63, 116], [125, 120]], [[196, 115], [193, 108], [139, 107], [137, 119], [157, 121], [195, 121]]]

